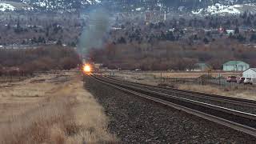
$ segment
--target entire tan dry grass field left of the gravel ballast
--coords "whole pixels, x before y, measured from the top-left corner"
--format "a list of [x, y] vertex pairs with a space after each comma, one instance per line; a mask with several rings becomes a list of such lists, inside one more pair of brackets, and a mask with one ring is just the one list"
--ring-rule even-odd
[[2, 144], [117, 142], [102, 107], [73, 72], [1, 83], [0, 114]]

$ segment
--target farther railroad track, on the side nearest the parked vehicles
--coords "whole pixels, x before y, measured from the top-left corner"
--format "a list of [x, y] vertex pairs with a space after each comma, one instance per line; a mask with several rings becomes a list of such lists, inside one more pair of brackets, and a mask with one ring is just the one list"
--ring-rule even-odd
[[159, 91], [163, 94], [171, 94], [180, 98], [190, 98], [198, 102], [205, 102], [217, 106], [223, 106], [226, 108], [232, 108], [234, 110], [240, 110], [243, 112], [256, 114], [256, 101], [242, 99], [242, 98], [232, 98], [226, 97], [217, 94], [206, 94], [200, 92], [193, 92], [189, 90], [178, 90], [169, 87], [162, 86], [150, 86], [146, 84], [136, 83], [136, 82], [125, 82], [115, 78], [110, 78], [103, 76], [104, 78], [109, 79], [110, 81], [122, 82], [132, 86], [140, 86], [147, 90]]

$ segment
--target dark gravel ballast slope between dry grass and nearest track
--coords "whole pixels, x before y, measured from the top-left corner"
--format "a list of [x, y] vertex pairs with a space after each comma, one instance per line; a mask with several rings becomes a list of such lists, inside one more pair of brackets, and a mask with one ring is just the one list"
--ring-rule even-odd
[[256, 143], [256, 138], [168, 106], [126, 94], [91, 78], [85, 87], [110, 118], [122, 143]]

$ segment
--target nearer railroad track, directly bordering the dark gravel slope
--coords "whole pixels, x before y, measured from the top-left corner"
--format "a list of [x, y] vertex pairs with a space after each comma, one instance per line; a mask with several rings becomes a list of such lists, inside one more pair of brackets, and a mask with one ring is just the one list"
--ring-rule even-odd
[[166, 106], [185, 111], [201, 118], [228, 126], [234, 130], [256, 137], [256, 115], [239, 110], [232, 110], [222, 106], [215, 106], [205, 102], [198, 102], [189, 98], [180, 98], [170, 94], [163, 94], [156, 90], [148, 90], [143, 86], [134, 86], [131, 83], [104, 78], [100, 75], [90, 75], [90, 78], [112, 86], [126, 93], [134, 94], [150, 101], [159, 102]]

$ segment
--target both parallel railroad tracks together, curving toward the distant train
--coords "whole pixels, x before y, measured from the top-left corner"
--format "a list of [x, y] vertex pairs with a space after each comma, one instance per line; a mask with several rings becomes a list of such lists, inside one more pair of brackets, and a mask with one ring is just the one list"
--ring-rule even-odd
[[124, 82], [97, 74], [88, 77], [126, 93], [183, 110], [256, 137], [256, 102], [254, 101]]

